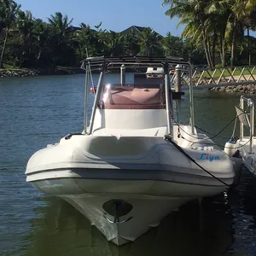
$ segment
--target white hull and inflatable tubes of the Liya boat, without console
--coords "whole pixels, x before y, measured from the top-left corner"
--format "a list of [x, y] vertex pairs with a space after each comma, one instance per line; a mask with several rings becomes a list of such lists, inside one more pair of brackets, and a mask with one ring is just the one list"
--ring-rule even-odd
[[[224, 183], [233, 183], [227, 154], [211, 148], [185, 150]], [[118, 245], [134, 241], [183, 203], [226, 189], [161, 137], [61, 139], [32, 156], [26, 176], [35, 188], [70, 202]], [[132, 209], [113, 223], [113, 214], [103, 208], [108, 201], [122, 201]]]

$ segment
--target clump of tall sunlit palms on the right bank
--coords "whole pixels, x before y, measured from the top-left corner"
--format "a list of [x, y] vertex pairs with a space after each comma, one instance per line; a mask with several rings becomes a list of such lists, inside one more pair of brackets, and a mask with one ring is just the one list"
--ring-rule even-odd
[[234, 66], [236, 46], [243, 39], [244, 28], [255, 28], [255, 0], [165, 0], [163, 5], [166, 4], [171, 5], [166, 15], [177, 16], [179, 24], [185, 25], [183, 37], [202, 41], [210, 67], [215, 65], [216, 49], [225, 65], [228, 48], [230, 64]]

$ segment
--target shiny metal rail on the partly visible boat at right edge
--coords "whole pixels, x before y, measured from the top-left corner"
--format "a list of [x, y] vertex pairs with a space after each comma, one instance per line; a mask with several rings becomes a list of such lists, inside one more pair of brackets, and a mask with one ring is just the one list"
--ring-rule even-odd
[[[247, 102], [247, 107], [250, 108], [250, 154], [253, 154], [253, 137], [254, 137], [254, 102], [251, 98], [245, 96], [240, 97], [240, 106], [244, 111], [244, 102]], [[243, 139], [243, 122], [240, 122], [240, 139]]]

